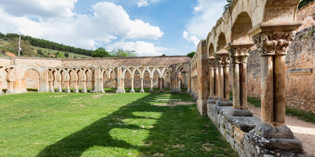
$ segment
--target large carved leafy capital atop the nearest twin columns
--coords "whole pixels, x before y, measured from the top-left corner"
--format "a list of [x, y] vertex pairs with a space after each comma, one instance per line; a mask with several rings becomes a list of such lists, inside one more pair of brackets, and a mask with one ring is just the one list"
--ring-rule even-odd
[[261, 55], [285, 55], [291, 45], [296, 31], [261, 32], [253, 41]]

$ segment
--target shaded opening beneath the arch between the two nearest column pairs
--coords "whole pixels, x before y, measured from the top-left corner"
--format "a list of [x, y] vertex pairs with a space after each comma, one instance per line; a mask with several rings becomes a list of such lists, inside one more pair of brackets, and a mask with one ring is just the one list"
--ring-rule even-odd
[[239, 14], [232, 28], [233, 44], [251, 41], [251, 36], [248, 35], [248, 31], [252, 28], [252, 20], [249, 15], [246, 12]]

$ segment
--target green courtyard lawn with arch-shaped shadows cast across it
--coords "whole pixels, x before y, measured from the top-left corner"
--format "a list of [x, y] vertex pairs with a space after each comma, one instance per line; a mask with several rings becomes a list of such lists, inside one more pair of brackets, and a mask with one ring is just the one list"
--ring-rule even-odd
[[237, 156], [196, 104], [171, 93], [1, 95], [0, 156]]

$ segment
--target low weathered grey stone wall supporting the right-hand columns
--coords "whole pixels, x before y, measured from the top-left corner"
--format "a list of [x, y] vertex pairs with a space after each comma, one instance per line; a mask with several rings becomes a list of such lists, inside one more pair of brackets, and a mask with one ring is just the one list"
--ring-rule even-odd
[[[298, 148], [301, 143], [297, 138], [263, 138], [253, 131], [261, 122], [255, 116], [231, 116], [232, 106], [217, 106], [207, 104], [207, 115], [215, 124], [221, 135], [241, 157], [271, 157], [271, 156], [301, 156], [299, 151], [285, 150]], [[278, 149], [277, 149], [278, 148]], [[281, 149], [281, 150], [280, 150]]]

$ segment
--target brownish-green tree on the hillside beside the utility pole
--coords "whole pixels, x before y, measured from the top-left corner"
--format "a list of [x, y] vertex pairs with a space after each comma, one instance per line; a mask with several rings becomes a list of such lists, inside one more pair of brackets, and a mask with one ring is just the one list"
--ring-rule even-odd
[[[34, 53], [34, 49], [31, 47], [31, 44], [29, 41], [21, 40], [20, 43], [21, 56], [27, 56], [27, 57], [35, 57], [36, 54]], [[4, 48], [7, 48], [12, 53], [18, 54], [19, 51], [19, 38], [11, 38], [9, 41], [9, 44], [5, 45]]]

